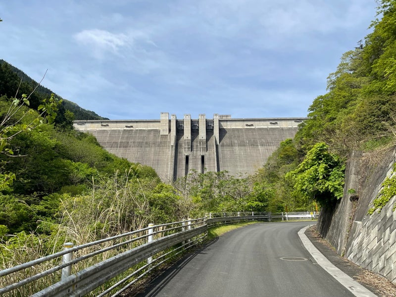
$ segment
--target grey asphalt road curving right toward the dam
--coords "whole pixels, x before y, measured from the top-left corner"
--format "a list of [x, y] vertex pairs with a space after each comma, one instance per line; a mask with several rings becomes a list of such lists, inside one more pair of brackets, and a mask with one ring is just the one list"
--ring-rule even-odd
[[318, 265], [297, 232], [311, 222], [228, 232], [156, 279], [149, 297], [353, 297]]

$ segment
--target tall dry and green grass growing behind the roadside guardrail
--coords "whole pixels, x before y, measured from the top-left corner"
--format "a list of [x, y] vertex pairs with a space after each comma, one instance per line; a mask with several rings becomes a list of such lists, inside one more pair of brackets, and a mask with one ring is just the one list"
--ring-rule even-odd
[[[155, 198], [155, 195], [158, 195], [158, 191], [154, 191], [157, 186], [157, 181], [142, 181], [127, 174], [121, 178], [114, 176], [112, 179], [102, 179], [95, 184], [93, 183], [92, 190], [85, 195], [74, 197], [66, 194], [62, 195], [59, 208], [61, 215], [58, 218], [58, 222], [42, 221], [39, 224], [39, 228], [50, 230], [49, 234], [43, 235], [34, 232], [26, 234], [22, 232], [2, 238], [0, 242], [1, 269], [13, 267], [60, 251], [65, 242], [71, 242], [75, 246], [80, 246], [133, 230], [140, 230], [146, 228], [152, 222], [160, 224], [165, 223], [166, 220], [178, 221], [183, 217], [187, 217], [188, 214], [183, 213], [181, 211], [182, 207], [177, 207], [177, 205], [176, 207], [175, 205], [167, 207], [168, 213], [159, 209], [163, 205], [153, 206], [152, 200]], [[175, 203], [175, 201], [171, 202]], [[164, 203], [166, 203], [166, 200]], [[174, 212], [169, 213], [169, 209], [174, 209]], [[135, 237], [141, 235], [137, 234]], [[73, 265], [72, 273], [99, 263], [122, 251], [141, 245], [143, 241], [110, 249], [94, 257], [80, 261]], [[73, 254], [73, 258], [110, 247], [120, 242], [122, 242], [122, 239], [77, 250]], [[60, 261], [61, 259], [54, 259], [1, 277], [0, 287], [13, 284], [28, 276], [45, 271], [59, 264]], [[117, 277], [114, 281], [124, 276], [125, 274]], [[59, 280], [60, 271], [6, 293], [4, 296], [30, 296]], [[99, 290], [110, 285], [110, 283], [106, 284]]]

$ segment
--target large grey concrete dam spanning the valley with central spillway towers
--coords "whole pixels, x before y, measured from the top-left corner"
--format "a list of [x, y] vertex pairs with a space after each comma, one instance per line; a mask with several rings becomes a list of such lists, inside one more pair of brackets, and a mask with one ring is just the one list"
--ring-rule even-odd
[[244, 118], [199, 114], [182, 120], [161, 112], [159, 120], [74, 121], [77, 130], [94, 135], [107, 151], [155, 169], [163, 181], [198, 172], [227, 170], [253, 174], [279, 144], [293, 138], [306, 118]]

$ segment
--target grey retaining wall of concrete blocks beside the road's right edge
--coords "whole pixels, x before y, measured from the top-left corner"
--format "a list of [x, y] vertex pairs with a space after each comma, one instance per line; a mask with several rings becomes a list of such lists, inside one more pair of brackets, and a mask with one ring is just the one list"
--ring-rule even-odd
[[[392, 172], [395, 157], [396, 151], [389, 151], [373, 166], [367, 155], [353, 152], [347, 163], [344, 197], [334, 207], [322, 209], [318, 230], [339, 254], [396, 284], [396, 197], [380, 213], [368, 214]], [[353, 197], [349, 189], [356, 191]]]

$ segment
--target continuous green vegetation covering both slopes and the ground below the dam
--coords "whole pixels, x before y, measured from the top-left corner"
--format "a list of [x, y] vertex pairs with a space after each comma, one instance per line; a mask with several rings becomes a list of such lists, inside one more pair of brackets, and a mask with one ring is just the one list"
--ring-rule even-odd
[[[329, 75], [328, 92], [313, 100], [295, 139], [282, 142], [248, 177], [191, 172], [164, 184], [151, 168], [106, 152], [94, 137], [72, 128], [73, 119], [95, 114], [79, 114], [48, 89], [33, 92], [25, 74], [0, 61], [2, 265], [15, 264], [13, 255], [29, 241], [39, 242], [33, 250], [45, 254], [65, 239], [82, 244], [149, 222], [333, 205], [342, 197], [352, 149], [395, 144], [396, 0], [380, 1], [378, 13], [372, 33]], [[27, 82], [19, 86], [20, 78]], [[10, 106], [16, 112], [4, 122]]]

